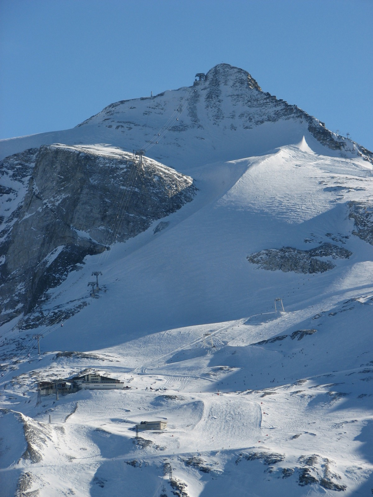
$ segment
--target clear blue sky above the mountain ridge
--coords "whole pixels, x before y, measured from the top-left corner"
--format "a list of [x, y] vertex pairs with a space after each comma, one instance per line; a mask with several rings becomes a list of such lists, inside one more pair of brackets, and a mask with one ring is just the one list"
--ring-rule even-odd
[[226, 62], [373, 150], [372, 19], [372, 0], [0, 0], [0, 138]]

